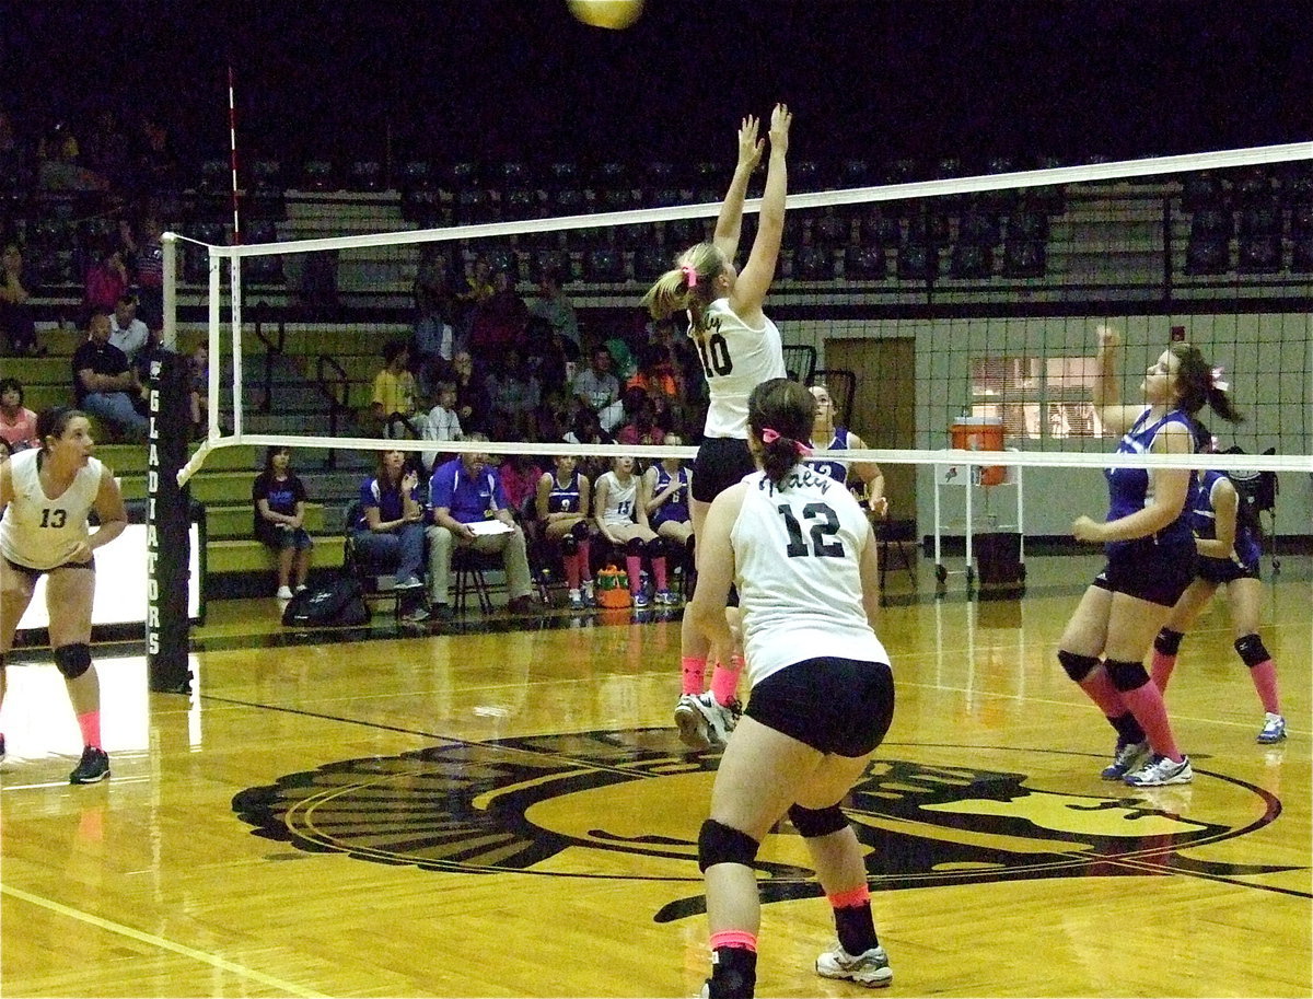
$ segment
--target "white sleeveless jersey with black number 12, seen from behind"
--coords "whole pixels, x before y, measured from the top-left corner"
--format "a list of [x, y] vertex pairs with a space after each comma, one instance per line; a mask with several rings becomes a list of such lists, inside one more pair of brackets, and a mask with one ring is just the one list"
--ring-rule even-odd
[[750, 683], [819, 656], [888, 663], [861, 604], [871, 526], [848, 490], [804, 465], [783, 490], [762, 471], [744, 482], [730, 545]]

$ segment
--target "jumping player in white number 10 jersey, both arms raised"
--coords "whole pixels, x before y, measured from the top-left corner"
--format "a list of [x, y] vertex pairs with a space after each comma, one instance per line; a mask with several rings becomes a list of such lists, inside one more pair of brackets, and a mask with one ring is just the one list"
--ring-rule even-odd
[[[793, 116], [785, 105], [775, 105], [756, 238], [743, 270], [734, 265], [743, 227], [743, 198], [764, 148], [764, 142], [758, 139], [758, 121], [751, 116], [739, 123], [738, 164], [716, 219], [712, 242], [684, 251], [676, 266], [662, 274], [643, 298], [654, 319], [678, 312], [688, 315], [688, 335], [697, 347], [710, 394], [704, 438], [693, 462], [689, 503], [699, 567], [702, 522], [712, 500], [752, 473], [746, 425], [748, 394], [763, 381], [785, 374], [780, 331], [765, 318], [762, 305], [771, 289], [784, 234], [792, 121]], [[720, 740], [733, 727], [730, 709], [742, 662], [731, 655], [730, 648], [717, 648], [721, 666], [712, 676], [710, 692], [704, 693], [712, 647], [700, 634], [689, 634], [687, 618], [684, 635], [683, 696], [676, 708], [676, 722], [684, 740], [696, 748], [709, 740], [705, 731], [714, 733], [713, 740]], [[695, 714], [700, 714], [706, 725], [699, 722]]]

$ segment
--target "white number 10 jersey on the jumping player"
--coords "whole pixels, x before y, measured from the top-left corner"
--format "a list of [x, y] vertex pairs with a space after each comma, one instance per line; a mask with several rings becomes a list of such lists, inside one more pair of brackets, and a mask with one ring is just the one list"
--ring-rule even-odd
[[780, 331], [765, 316], [759, 328], [747, 326], [727, 298], [712, 302], [705, 319], [706, 332], [693, 337], [710, 393], [704, 436], [747, 440], [747, 398], [762, 382], [788, 374]]

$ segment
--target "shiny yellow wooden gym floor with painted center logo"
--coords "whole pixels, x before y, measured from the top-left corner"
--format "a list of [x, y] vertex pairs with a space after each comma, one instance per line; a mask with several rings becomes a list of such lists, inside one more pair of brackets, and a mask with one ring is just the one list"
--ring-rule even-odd
[[[1291, 738], [1258, 746], [1225, 606], [1169, 692], [1192, 785], [1099, 780], [1111, 730], [1054, 645], [1094, 558], [1032, 558], [1020, 600], [890, 571], [893, 729], [852, 799], [892, 995], [1308, 996], [1313, 558], [1263, 638]], [[1266, 571], [1266, 570], [1264, 570]], [[716, 757], [670, 727], [678, 616], [432, 634], [286, 634], [211, 605], [192, 697], [97, 648], [113, 777], [42, 650], [13, 656], [0, 784], [0, 991], [106, 996], [688, 996]], [[830, 916], [796, 835], [760, 853], [758, 994], [811, 970]]]

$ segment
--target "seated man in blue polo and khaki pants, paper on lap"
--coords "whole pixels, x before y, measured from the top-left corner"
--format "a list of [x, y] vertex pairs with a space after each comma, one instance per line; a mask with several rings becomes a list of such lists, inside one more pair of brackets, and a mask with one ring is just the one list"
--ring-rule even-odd
[[[486, 441], [482, 433], [466, 440]], [[500, 554], [506, 566], [507, 610], [533, 612], [529, 596], [529, 558], [524, 530], [511, 516], [500, 477], [484, 453], [460, 454], [440, 465], [429, 482], [433, 526], [429, 540], [429, 599], [436, 617], [449, 617], [448, 589], [453, 547], [469, 547], [484, 554]]]

